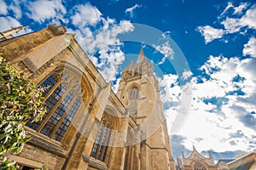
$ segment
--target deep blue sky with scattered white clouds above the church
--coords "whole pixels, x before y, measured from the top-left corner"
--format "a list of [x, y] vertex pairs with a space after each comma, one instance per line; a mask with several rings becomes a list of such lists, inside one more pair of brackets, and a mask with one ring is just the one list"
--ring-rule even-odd
[[[255, 150], [255, 1], [0, 0], [0, 31], [27, 25], [24, 34], [52, 23], [76, 34], [113, 90], [119, 72], [144, 48], [169, 129], [188, 101], [189, 114], [172, 133], [175, 157], [189, 156], [192, 144], [203, 154], [212, 150], [214, 159]], [[137, 29], [155, 34], [136, 40]]]

